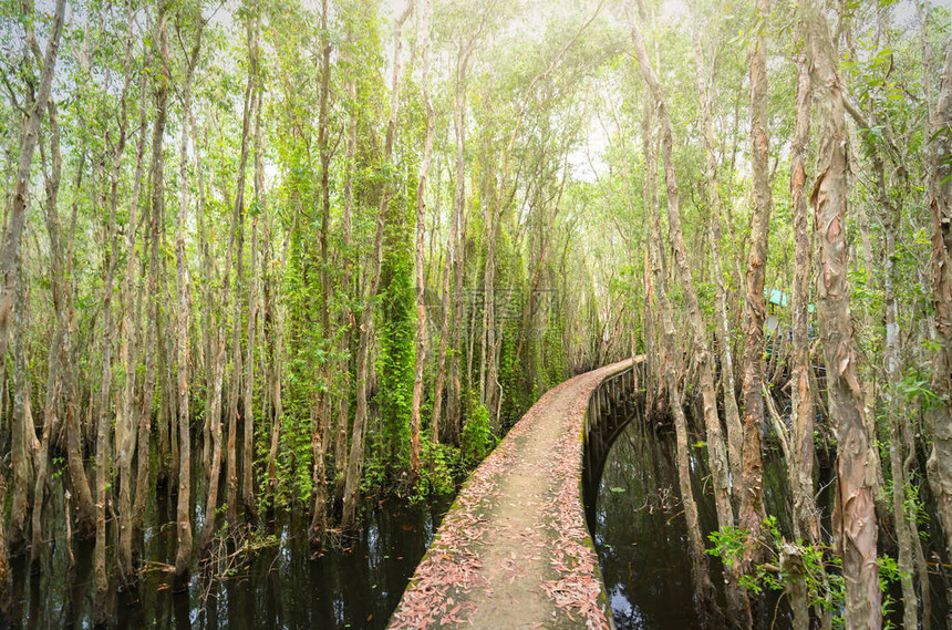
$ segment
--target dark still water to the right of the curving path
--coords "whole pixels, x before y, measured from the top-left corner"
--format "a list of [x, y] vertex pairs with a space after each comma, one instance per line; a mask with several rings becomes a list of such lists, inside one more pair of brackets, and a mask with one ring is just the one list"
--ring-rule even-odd
[[[716, 513], [706, 467], [706, 445], [697, 434], [689, 435], [692, 486], [697, 502], [702, 534], [710, 548], [707, 535], [716, 528]], [[767, 441], [770, 444], [770, 440]], [[768, 446], [769, 448], [769, 446]], [[717, 616], [704, 616], [694, 598], [686, 526], [677, 487], [673, 433], [655, 432], [635, 413], [618, 434], [603, 459], [600, 479], [587, 479], [586, 509], [596, 550], [601, 561], [609, 603], [619, 630], [720, 630]], [[598, 475], [593, 463], [591, 476]], [[832, 488], [831, 471], [822, 468], [818, 487], [822, 526], [829, 530]], [[589, 473], [589, 471], [587, 471]], [[775, 451], [764, 458], [764, 504], [768, 515], [777, 517], [783, 534], [791, 538], [787, 514], [784, 462]], [[923, 530], [929, 533], [928, 519]], [[886, 547], [892, 540], [891, 530], [880, 530], [880, 555], [894, 557]], [[883, 531], [886, 531], [883, 534]], [[938, 561], [932, 550], [932, 531], [923, 540], [927, 558]], [[829, 541], [827, 541], [829, 544]], [[710, 558], [712, 580], [723, 586], [721, 562]], [[934, 564], [932, 566], [935, 566]], [[931, 622], [933, 630], [946, 628], [945, 583], [941, 571], [930, 571]], [[891, 612], [887, 620], [894, 628], [902, 626], [899, 585], [890, 585], [888, 597]], [[723, 608], [723, 592], [718, 593]], [[789, 630], [790, 611], [786, 598], [766, 591], [763, 599], [752, 600], [755, 628]], [[921, 610], [920, 602], [920, 614]], [[816, 623], [816, 620], [814, 620]], [[815, 626], [816, 627], [816, 626]]]

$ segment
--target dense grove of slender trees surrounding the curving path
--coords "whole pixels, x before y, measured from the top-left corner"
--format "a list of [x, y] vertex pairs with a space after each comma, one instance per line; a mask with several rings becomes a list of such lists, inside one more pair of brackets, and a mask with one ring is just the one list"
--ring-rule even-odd
[[700, 601], [713, 552], [732, 626], [773, 583], [796, 628], [880, 628], [896, 576], [929, 627], [950, 35], [927, 0], [3, 3], [0, 611], [54, 506], [107, 623], [155, 493], [176, 588], [280, 512], [319, 552], [646, 353]]

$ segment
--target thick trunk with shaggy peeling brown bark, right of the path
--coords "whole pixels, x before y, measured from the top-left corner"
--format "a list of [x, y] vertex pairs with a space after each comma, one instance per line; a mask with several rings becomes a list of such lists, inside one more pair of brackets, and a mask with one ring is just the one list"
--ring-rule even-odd
[[830, 417], [837, 433], [836, 539], [841, 545], [846, 582], [846, 627], [879, 629], [881, 592], [877, 567], [877, 526], [869, 469], [870, 436], [862, 414], [850, 313], [846, 242], [847, 155], [842, 96], [826, 18], [806, 4], [811, 79], [818, 121], [817, 179], [810, 197], [820, 244], [818, 319], [827, 366]]

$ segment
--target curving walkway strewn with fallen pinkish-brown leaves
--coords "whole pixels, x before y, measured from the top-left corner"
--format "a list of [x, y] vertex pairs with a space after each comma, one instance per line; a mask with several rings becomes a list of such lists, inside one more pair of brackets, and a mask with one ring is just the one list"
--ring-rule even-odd
[[390, 620], [608, 629], [580, 478], [589, 396], [622, 361], [546, 392], [470, 475]]

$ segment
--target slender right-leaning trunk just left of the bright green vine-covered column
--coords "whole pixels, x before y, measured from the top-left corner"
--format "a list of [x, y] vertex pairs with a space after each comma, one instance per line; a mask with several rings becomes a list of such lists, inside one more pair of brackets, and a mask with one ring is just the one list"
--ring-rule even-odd
[[[391, 79], [390, 94], [390, 120], [386, 125], [386, 141], [384, 145], [383, 168], [389, 167], [393, 155], [393, 143], [396, 136], [396, 117], [400, 113], [400, 80], [401, 80], [401, 52], [403, 50], [403, 23], [413, 10], [413, 0], [407, 2], [406, 9], [394, 23], [393, 31], [393, 76]], [[348, 459], [348, 474], [344, 482], [344, 506], [341, 527], [345, 530], [356, 526], [356, 505], [360, 499], [360, 483], [363, 474], [363, 433], [368, 415], [369, 381], [369, 353], [370, 333], [373, 328], [373, 299], [380, 285], [380, 270], [383, 264], [383, 235], [386, 211], [390, 206], [392, 190], [391, 184], [384, 183], [381, 190], [380, 207], [376, 215], [376, 229], [373, 242], [371, 261], [371, 273], [368, 287], [364, 290], [363, 307], [361, 310], [360, 341], [358, 347], [356, 365], [356, 415], [354, 417], [353, 436], [351, 438], [351, 452]]]

